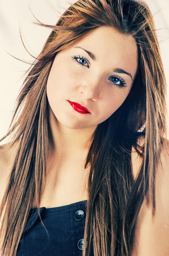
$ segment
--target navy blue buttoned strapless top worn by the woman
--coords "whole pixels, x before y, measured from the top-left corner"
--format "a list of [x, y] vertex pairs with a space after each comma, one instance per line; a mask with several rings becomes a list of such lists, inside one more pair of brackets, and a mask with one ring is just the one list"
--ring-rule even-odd
[[[31, 209], [17, 256], [82, 256], [87, 200], [53, 208]], [[48, 238], [49, 236], [49, 238]], [[90, 245], [93, 256], [93, 244]]]

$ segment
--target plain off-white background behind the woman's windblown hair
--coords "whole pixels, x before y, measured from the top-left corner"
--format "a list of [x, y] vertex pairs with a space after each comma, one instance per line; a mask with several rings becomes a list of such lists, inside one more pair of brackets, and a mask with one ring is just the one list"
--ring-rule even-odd
[[[160, 42], [161, 56], [167, 79], [167, 110], [169, 112], [169, 0], [145, 0], [154, 16], [158, 40]], [[32, 24], [37, 21], [31, 11], [42, 23], [55, 24], [68, 3], [75, 0], [1, 0], [0, 1], [0, 138], [6, 134], [17, 95], [24, 78], [23, 72], [29, 65], [24, 64], [8, 55], [24, 61], [34, 61], [23, 47], [19, 28], [23, 36], [25, 47], [37, 57], [42, 49], [51, 29]], [[29, 9], [31, 8], [31, 11]], [[54, 9], [55, 8], [55, 9]], [[60, 14], [59, 14], [60, 12]], [[169, 120], [167, 118], [169, 126]], [[169, 129], [168, 136], [169, 138]], [[10, 141], [10, 137], [3, 142]]]

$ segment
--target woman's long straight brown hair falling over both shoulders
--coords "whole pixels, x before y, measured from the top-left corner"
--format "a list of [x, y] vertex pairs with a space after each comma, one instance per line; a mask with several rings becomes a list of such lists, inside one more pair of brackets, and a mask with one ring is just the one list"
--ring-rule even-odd
[[[152, 13], [141, 0], [78, 0], [56, 25], [35, 24], [52, 32], [27, 71], [8, 132], [0, 140], [12, 132], [12, 145], [20, 140], [0, 205], [0, 216], [6, 207], [0, 230], [2, 253], [16, 255], [35, 198], [39, 212], [49, 146], [46, 84], [54, 58], [94, 29], [109, 26], [135, 38], [138, 70], [129, 95], [117, 111], [97, 126], [88, 150], [85, 168], [90, 164], [90, 174], [83, 256], [89, 256], [91, 241], [95, 256], [130, 256], [145, 196], [149, 198], [152, 217], [155, 215], [156, 167], [167, 137], [166, 79]], [[12, 126], [20, 108], [20, 116]], [[137, 143], [141, 136], [143, 146]], [[132, 146], [142, 159], [135, 180]]]

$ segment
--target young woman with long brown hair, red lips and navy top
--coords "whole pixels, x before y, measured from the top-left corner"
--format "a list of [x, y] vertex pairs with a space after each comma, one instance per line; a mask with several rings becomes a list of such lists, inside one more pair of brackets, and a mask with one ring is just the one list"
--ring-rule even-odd
[[[7, 256], [169, 255], [166, 79], [140, 0], [78, 0], [28, 70], [0, 148]], [[22, 107], [20, 116], [15, 120]]]

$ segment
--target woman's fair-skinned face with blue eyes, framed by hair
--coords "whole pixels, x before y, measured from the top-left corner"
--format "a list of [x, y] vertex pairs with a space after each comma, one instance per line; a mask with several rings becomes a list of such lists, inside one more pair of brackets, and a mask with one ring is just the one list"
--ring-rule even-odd
[[[92, 52], [96, 59], [79, 47]], [[56, 123], [83, 129], [97, 127], [109, 118], [130, 92], [137, 57], [134, 38], [106, 26], [58, 52], [47, 81], [49, 110]], [[85, 106], [90, 113], [75, 111], [68, 101]]]

